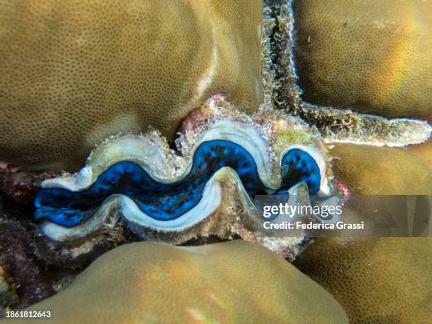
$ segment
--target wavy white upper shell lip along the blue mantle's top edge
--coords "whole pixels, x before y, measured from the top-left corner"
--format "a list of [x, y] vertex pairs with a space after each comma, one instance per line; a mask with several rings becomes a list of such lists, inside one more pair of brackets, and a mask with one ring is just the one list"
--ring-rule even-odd
[[[263, 137], [263, 133], [256, 128], [231, 120], [222, 120], [212, 124], [208, 130], [198, 138], [190, 152], [186, 152], [183, 157], [170, 159], [166, 156], [175, 155], [174, 151], [155, 154], [155, 146], [157, 145], [152, 145], [145, 136], [124, 136], [117, 138], [114, 142], [109, 144], [110, 148], [102, 148], [102, 150], [107, 150], [107, 152], [102, 152], [102, 160], [107, 160], [108, 167], [115, 162], [135, 160], [141, 167], [143, 167], [143, 169], [145, 169], [146, 172], [148, 172], [152, 179], [162, 184], [171, 184], [184, 179], [184, 177], [188, 175], [192, 167], [193, 154], [201, 143], [209, 140], [229, 140], [232, 143], [241, 145], [249, 152], [249, 154], [251, 154], [253, 160], [256, 162], [258, 175], [263, 185], [270, 189], [277, 189], [280, 185], [280, 166], [277, 166], [276, 169], [273, 167], [274, 164], [271, 159], [273, 149], [268, 143], [268, 140]], [[149, 148], [145, 145], [148, 145]], [[323, 155], [321, 155], [320, 152], [312, 146], [294, 144], [288, 145], [287, 148], [282, 150], [279, 162], [283, 155], [293, 148], [304, 150], [304, 152], [307, 152], [314, 160], [316, 160], [320, 169], [320, 191], [318, 194], [328, 195], [330, 193], [330, 188], [328, 186], [326, 163]], [[97, 155], [97, 150], [98, 148], [95, 152], [92, 152], [92, 155]], [[106, 157], [106, 155], [109, 155], [110, 150], [115, 151], [115, 154], [117, 155], [116, 160], [113, 160], [112, 162], [109, 162], [109, 157]], [[149, 150], [150, 152], [148, 152]], [[125, 157], [124, 160], [119, 159], [121, 156]], [[100, 162], [98, 164], [100, 164]], [[161, 165], [174, 171], [172, 173], [168, 172], [168, 176], [167, 174], [161, 174], [161, 172], [157, 172]], [[100, 166], [94, 165], [92, 161], [90, 161], [80, 170], [80, 172], [72, 175], [68, 174], [66, 176], [59, 176], [54, 179], [47, 179], [42, 181], [41, 186], [42, 188], [64, 188], [70, 191], [83, 191], [86, 188], [89, 188], [95, 178], [102, 173], [101, 171], [94, 171], [97, 167]], [[107, 169], [107, 167], [104, 169]], [[277, 176], [278, 184], [275, 184], [275, 181], [273, 180], [275, 174]]]

